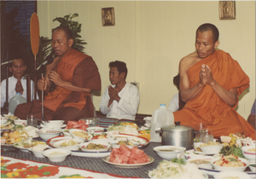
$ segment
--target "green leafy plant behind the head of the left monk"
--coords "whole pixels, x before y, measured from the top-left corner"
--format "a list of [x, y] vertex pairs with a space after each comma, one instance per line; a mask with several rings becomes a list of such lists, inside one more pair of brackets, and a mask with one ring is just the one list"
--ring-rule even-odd
[[78, 17], [79, 14], [75, 13], [73, 15], [67, 14], [64, 17], [56, 17], [53, 21], [60, 22], [60, 26], [68, 26], [71, 31], [73, 32], [73, 49], [77, 49], [81, 52], [84, 52], [84, 44], [87, 44], [84, 42], [84, 40], [80, 39], [81, 36], [79, 33], [81, 32], [81, 26], [82, 24], [79, 24], [78, 21], [73, 21], [73, 18]]

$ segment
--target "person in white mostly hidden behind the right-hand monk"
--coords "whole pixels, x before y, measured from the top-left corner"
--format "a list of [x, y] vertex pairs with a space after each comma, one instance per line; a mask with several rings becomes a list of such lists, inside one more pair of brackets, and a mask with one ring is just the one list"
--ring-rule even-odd
[[[177, 87], [177, 90], [179, 90], [179, 74], [177, 74], [173, 78], [173, 84]], [[183, 102], [180, 98], [180, 92], [177, 92], [177, 94], [173, 95], [172, 100], [169, 103], [168, 109], [173, 113], [177, 112], [178, 110], [182, 110], [185, 106], [185, 102]]]

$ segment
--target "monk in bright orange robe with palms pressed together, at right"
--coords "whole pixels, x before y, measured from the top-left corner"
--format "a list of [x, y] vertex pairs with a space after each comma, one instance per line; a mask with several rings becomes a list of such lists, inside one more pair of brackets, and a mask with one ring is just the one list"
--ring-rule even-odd
[[180, 94], [186, 104], [173, 113], [174, 120], [192, 127], [206, 124], [217, 138], [241, 132], [255, 140], [255, 130], [235, 110], [249, 78], [230, 54], [216, 49], [218, 44], [216, 26], [198, 27], [196, 51], [179, 63]]

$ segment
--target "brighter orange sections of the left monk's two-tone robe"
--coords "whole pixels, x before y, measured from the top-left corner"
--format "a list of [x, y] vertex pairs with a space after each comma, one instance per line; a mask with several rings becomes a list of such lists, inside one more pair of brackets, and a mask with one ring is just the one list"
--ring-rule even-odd
[[[90, 56], [77, 50], [70, 49], [58, 64], [57, 73], [64, 81], [73, 82], [73, 72], [75, 67], [87, 57]], [[62, 101], [64, 101], [71, 93], [72, 90], [57, 86], [54, 91], [49, 92], [48, 95], [45, 96], [44, 107], [55, 112], [57, 108], [60, 107]], [[80, 100], [78, 102], [66, 103], [63, 107], [76, 107], [81, 111], [86, 104], [85, 95], [90, 95], [90, 93], [80, 93]]]

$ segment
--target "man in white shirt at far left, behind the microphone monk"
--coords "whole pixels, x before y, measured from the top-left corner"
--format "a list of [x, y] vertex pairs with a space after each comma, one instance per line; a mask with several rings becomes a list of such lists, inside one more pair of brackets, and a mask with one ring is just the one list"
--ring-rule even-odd
[[[26, 78], [23, 77], [26, 71], [26, 65], [21, 58], [13, 60], [9, 71], [13, 73], [12, 77], [9, 77], [9, 100], [20, 93], [22, 97], [26, 99]], [[31, 88], [33, 88], [33, 81], [31, 81]], [[31, 90], [32, 91], [32, 90]], [[33, 94], [31, 93], [31, 99]], [[6, 79], [1, 83], [1, 107], [3, 107], [6, 101]]]

